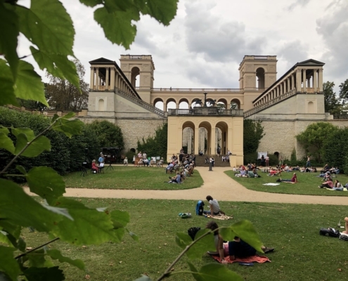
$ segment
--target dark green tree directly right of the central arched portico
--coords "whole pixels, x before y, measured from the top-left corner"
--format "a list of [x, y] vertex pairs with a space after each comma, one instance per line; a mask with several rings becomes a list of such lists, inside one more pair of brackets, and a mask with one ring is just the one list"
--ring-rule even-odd
[[243, 122], [243, 152], [247, 153], [257, 152], [259, 143], [264, 136], [264, 127], [262, 121], [252, 121], [244, 119]]

